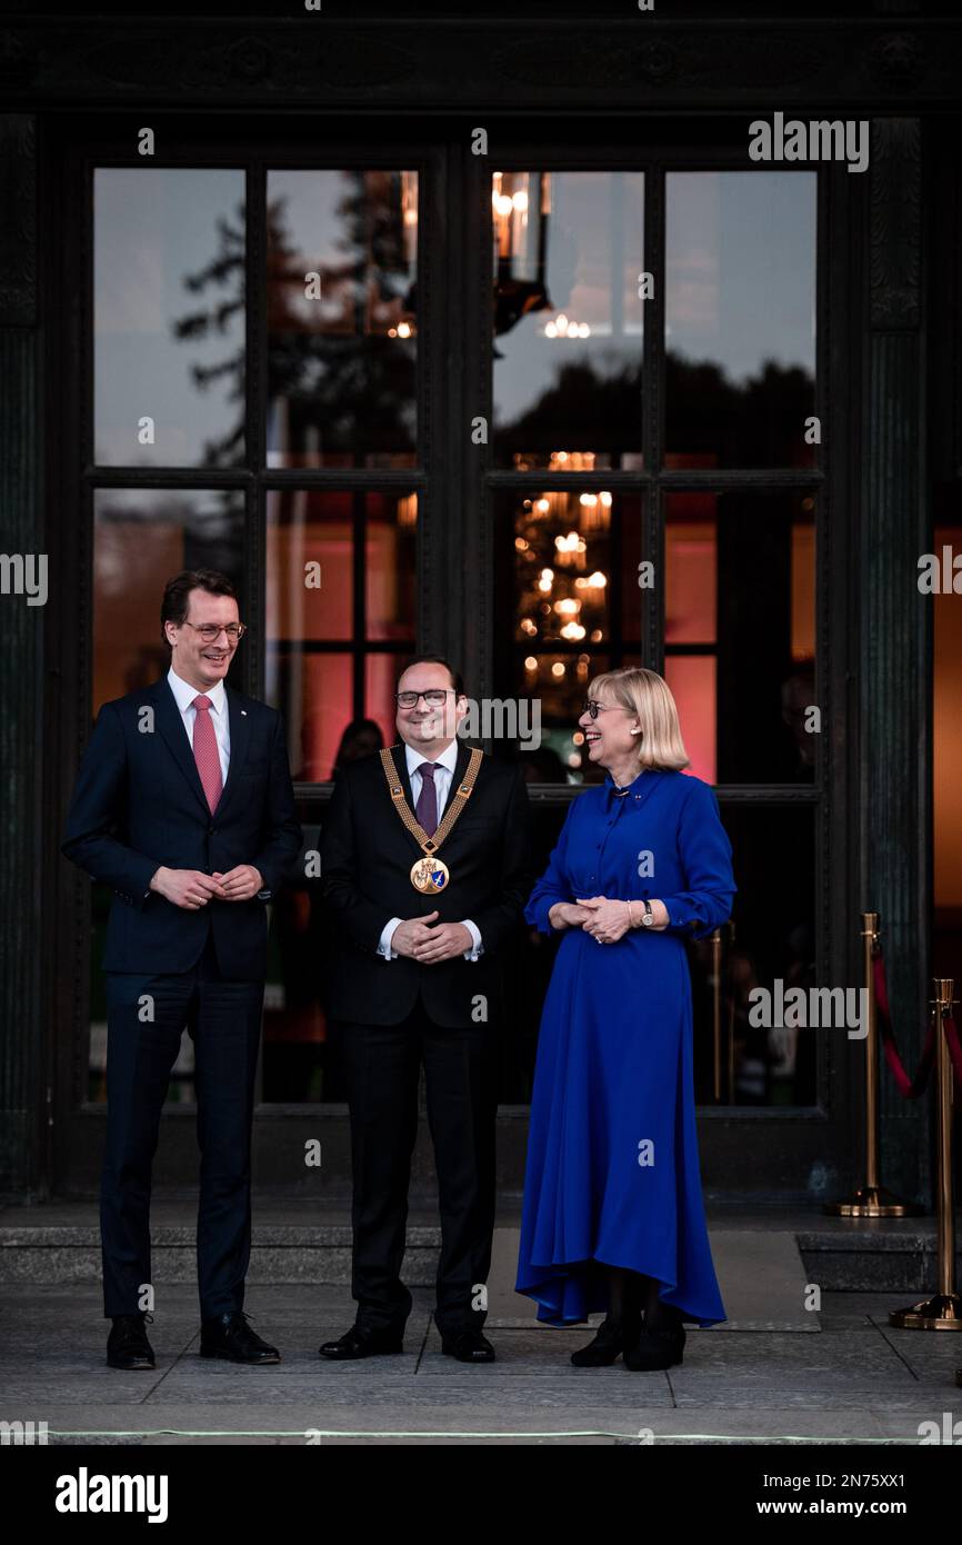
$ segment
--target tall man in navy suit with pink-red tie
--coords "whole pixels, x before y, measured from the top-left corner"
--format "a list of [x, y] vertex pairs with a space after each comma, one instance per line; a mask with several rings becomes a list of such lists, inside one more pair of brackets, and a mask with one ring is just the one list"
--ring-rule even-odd
[[181, 1032], [195, 1041], [201, 1353], [278, 1363], [242, 1312], [250, 1126], [267, 913], [301, 845], [281, 715], [224, 678], [244, 633], [224, 575], [168, 581], [171, 666], [105, 703], [63, 853], [113, 887], [107, 929], [107, 1154], [100, 1183], [107, 1361], [154, 1366], [150, 1174]]

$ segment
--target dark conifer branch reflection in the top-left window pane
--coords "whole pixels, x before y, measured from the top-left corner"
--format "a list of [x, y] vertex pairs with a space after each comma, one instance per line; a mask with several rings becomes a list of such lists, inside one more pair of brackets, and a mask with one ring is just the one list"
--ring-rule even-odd
[[184, 289], [199, 295], [208, 284], [225, 289], [227, 294], [210, 309], [196, 311], [173, 323], [173, 335], [179, 341], [196, 343], [199, 338], [210, 338], [213, 334], [225, 334], [232, 317], [241, 314], [239, 343], [227, 360], [213, 365], [191, 365], [190, 374], [198, 391], [207, 391], [212, 382], [227, 377], [230, 388], [225, 400], [238, 403], [238, 416], [233, 430], [222, 439], [204, 442], [204, 467], [233, 467], [244, 457], [244, 263], [246, 263], [246, 219], [244, 205], [238, 205], [238, 224], [232, 226], [224, 216], [218, 218], [219, 250], [198, 273], [184, 275]]

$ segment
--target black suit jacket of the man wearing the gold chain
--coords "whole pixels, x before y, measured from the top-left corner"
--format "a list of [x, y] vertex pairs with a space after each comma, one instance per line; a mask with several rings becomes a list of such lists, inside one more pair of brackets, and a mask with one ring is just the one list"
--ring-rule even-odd
[[[403, 745], [394, 762], [414, 810]], [[454, 780], [465, 774], [471, 746], [459, 742]], [[445, 805], [445, 811], [448, 805]], [[380, 756], [360, 757], [338, 772], [321, 837], [321, 887], [329, 915], [340, 929], [329, 1009], [337, 1020], [398, 1024], [415, 1004], [418, 987], [437, 1024], [480, 1021], [473, 1000], [486, 998], [493, 1021], [502, 1006], [500, 958], [522, 919], [534, 882], [530, 850], [528, 791], [520, 766], [485, 756], [474, 791], [445, 839], [439, 857], [451, 878], [445, 890], [423, 896], [411, 884], [411, 865], [422, 857], [403, 825]], [[418, 966], [398, 955], [377, 953], [391, 918], [417, 918], [437, 910], [439, 922], [471, 918], [482, 936], [477, 961]]]

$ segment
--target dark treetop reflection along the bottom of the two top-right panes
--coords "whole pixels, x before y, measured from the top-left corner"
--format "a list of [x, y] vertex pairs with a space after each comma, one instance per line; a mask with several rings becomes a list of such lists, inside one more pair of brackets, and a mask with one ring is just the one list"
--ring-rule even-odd
[[[554, 383], [511, 423], [497, 425], [503, 457], [556, 450], [608, 454], [618, 467], [641, 450], [641, 362], [621, 365], [604, 349], [596, 360], [561, 365]], [[605, 369], [605, 363], [608, 368]], [[814, 382], [801, 366], [766, 360], [741, 385], [710, 360], [666, 358], [666, 447], [713, 453], [723, 467], [806, 465], [804, 419], [814, 413]]]

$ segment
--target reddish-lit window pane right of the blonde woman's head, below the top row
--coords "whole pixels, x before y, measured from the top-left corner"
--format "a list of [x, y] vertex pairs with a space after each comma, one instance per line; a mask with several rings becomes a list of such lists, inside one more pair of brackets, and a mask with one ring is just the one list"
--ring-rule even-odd
[[693, 771], [718, 783], [815, 776], [815, 501], [666, 499], [666, 680]]

